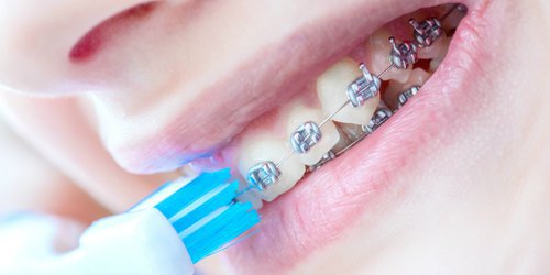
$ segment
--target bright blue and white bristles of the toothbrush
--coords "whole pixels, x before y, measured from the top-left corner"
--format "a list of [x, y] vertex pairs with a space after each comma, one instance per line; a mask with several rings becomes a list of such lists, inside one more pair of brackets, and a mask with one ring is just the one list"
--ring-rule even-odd
[[229, 169], [204, 173], [155, 207], [172, 222], [191, 261], [218, 251], [260, 222], [250, 202], [238, 202]]

